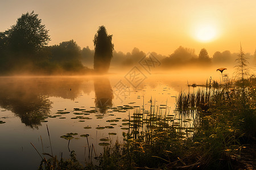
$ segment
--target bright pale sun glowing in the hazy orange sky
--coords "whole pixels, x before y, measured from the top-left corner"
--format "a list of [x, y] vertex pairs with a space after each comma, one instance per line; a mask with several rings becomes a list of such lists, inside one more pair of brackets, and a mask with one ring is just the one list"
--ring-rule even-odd
[[213, 41], [217, 38], [217, 28], [214, 24], [203, 23], [198, 24], [193, 33], [196, 40], [202, 42]]

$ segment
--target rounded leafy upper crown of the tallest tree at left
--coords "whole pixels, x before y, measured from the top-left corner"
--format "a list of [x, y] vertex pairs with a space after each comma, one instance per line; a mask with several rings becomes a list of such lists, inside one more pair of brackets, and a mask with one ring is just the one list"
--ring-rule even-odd
[[6, 31], [10, 49], [19, 53], [35, 53], [51, 40], [46, 25], [41, 24], [38, 14], [22, 14], [15, 25]]

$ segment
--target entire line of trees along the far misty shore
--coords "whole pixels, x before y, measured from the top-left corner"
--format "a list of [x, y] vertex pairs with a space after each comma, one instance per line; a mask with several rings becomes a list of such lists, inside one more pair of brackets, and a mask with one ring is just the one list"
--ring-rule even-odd
[[[123, 53], [114, 51], [112, 36], [102, 25], [94, 36], [94, 49], [81, 49], [74, 40], [48, 46], [51, 41], [49, 30], [34, 11], [22, 14], [5, 32], [0, 32], [0, 74], [86, 74], [107, 73], [109, 67], [130, 67], [136, 65], [146, 53], [138, 48]], [[164, 69], [175, 69], [190, 65], [204, 67], [209, 65], [230, 65], [238, 53], [215, 52], [209, 57], [203, 48], [197, 55], [194, 49], [179, 46], [170, 56], [151, 53]], [[256, 63], [254, 55], [245, 54]], [[88, 68], [90, 67], [90, 69]]]

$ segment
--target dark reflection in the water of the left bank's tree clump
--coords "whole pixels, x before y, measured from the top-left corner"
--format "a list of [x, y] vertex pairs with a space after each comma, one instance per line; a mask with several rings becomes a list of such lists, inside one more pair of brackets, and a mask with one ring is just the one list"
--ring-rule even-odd
[[13, 112], [31, 128], [38, 128], [50, 113], [49, 96], [75, 100], [83, 91], [89, 94], [92, 84], [78, 78], [0, 78], [0, 107]]

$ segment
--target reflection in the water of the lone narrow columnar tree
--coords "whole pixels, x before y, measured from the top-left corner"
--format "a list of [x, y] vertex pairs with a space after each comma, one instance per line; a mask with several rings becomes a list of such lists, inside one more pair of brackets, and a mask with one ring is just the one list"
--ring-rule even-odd
[[95, 106], [100, 113], [106, 113], [108, 107], [112, 107], [113, 91], [108, 78], [94, 79]]

